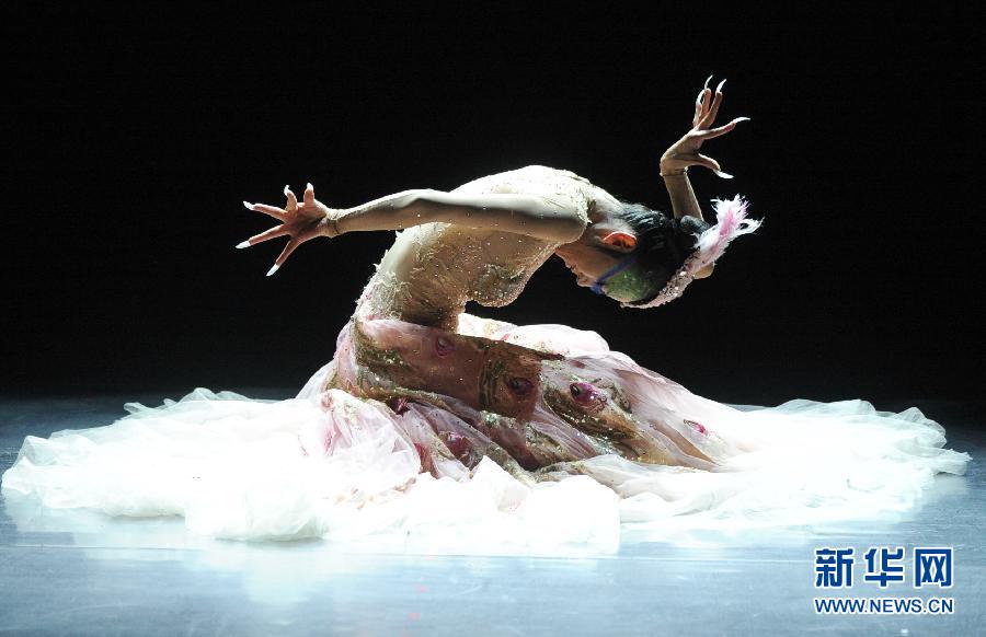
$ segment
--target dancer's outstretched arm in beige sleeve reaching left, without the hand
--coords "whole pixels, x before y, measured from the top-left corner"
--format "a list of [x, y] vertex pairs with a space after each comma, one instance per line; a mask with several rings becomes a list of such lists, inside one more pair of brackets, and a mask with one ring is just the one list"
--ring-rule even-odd
[[345, 233], [402, 230], [439, 221], [567, 243], [585, 230], [585, 221], [574, 206], [538, 195], [414, 189], [344, 210], [336, 224]]

